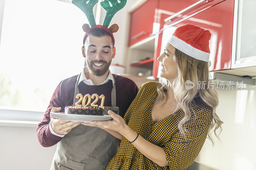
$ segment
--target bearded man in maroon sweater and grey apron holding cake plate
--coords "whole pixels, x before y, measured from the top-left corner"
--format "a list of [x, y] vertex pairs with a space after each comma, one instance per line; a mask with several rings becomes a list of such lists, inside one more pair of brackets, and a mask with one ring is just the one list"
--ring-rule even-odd
[[[58, 143], [51, 169], [105, 169], [117, 152], [116, 138], [105, 130], [50, 116], [50, 111], [64, 112], [65, 106], [74, 105], [77, 93], [97, 93], [104, 94], [105, 108], [124, 117], [138, 87], [132, 80], [113, 75], [108, 70], [115, 57], [114, 42], [113, 34], [105, 28], [90, 28], [82, 47], [87, 67], [80, 75], [61, 81], [52, 95], [43, 120], [36, 129], [38, 140], [44, 147]], [[96, 104], [100, 105], [100, 101]]]

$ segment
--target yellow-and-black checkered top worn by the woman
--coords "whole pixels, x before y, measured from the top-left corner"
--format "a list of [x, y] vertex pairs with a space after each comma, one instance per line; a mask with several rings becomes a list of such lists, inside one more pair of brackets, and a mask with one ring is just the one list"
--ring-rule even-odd
[[116, 156], [111, 159], [106, 169], [118, 170], [151, 170], [151, 169], [186, 169], [200, 152], [212, 121], [212, 108], [199, 98], [192, 101], [192, 109], [196, 113], [185, 123], [186, 139], [178, 129], [178, 123], [184, 117], [182, 109], [154, 123], [151, 107], [157, 95], [156, 82], [148, 82], [140, 87], [136, 98], [132, 101], [124, 115], [125, 123], [141, 137], [164, 149], [168, 166], [161, 167], [138, 151], [123, 137]]

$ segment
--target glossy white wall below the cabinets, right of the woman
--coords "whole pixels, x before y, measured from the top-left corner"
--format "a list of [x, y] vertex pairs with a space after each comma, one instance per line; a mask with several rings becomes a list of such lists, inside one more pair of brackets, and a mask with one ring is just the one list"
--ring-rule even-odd
[[220, 142], [206, 142], [196, 160], [221, 170], [256, 169], [256, 87], [218, 90], [217, 113], [224, 122]]

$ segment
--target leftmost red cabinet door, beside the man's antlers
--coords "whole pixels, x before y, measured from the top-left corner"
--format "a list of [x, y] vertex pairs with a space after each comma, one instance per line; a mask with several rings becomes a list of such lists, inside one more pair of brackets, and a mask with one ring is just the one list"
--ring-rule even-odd
[[157, 4], [158, 0], [148, 0], [131, 13], [129, 46], [152, 34]]

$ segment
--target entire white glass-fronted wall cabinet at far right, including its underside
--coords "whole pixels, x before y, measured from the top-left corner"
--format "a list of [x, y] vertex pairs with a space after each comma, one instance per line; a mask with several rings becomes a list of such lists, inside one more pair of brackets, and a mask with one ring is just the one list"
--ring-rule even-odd
[[255, 0], [236, 0], [231, 70], [222, 72], [256, 78]]

